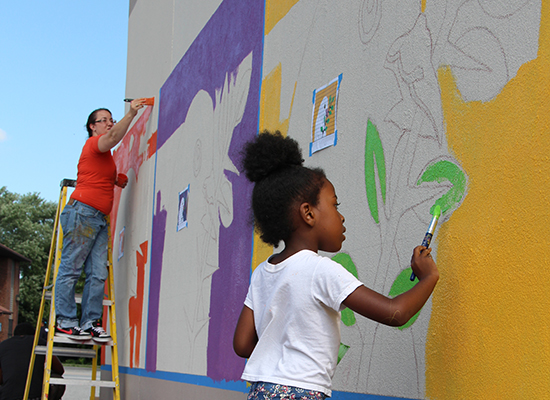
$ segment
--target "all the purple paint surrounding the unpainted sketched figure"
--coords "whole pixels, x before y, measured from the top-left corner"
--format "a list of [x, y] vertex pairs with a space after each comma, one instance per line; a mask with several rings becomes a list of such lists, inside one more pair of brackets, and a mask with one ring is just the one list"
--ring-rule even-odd
[[[185, 122], [189, 106], [199, 90], [209, 93], [215, 102], [216, 89], [223, 86], [226, 75], [232, 76], [252, 52], [247, 104], [241, 123], [233, 131], [229, 149], [230, 158], [240, 166], [240, 149], [258, 131], [263, 23], [263, 0], [225, 0], [220, 5], [161, 88], [157, 155], [158, 149]], [[233, 185], [234, 215], [231, 226], [224, 228], [221, 225], [220, 228], [219, 269], [212, 276], [207, 350], [207, 375], [216, 381], [238, 380], [244, 368], [244, 360], [233, 352], [232, 341], [248, 290], [252, 252], [252, 226], [249, 223], [252, 185], [244, 174], [237, 176], [226, 172], [226, 176]], [[160, 195], [158, 201], [153, 220], [152, 258], [154, 252], [162, 251], [164, 246], [166, 213], [159, 212]], [[158, 223], [157, 218], [161, 220]], [[162, 254], [157, 259], [162, 263]], [[156, 369], [157, 354], [161, 264], [153, 270], [153, 262], [152, 259], [147, 370], [153, 366]], [[158, 284], [153, 285], [153, 279], [158, 280]]]

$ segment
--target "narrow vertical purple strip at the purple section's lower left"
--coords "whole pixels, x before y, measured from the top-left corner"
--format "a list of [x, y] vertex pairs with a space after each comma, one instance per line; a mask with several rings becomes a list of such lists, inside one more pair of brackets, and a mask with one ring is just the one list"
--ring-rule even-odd
[[162, 255], [164, 236], [166, 235], [166, 215], [161, 211], [160, 190], [157, 192], [156, 211], [153, 216], [153, 237], [151, 238], [151, 275], [149, 278], [149, 313], [147, 320], [147, 346], [145, 351], [145, 369], [157, 370], [157, 338], [160, 301], [160, 282], [162, 276]]

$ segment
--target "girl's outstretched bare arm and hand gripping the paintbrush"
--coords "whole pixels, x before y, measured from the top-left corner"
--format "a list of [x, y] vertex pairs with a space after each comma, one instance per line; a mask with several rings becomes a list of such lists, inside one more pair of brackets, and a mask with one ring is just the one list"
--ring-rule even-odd
[[384, 325], [406, 324], [424, 306], [439, 280], [439, 271], [430, 252], [431, 249], [424, 246], [414, 249], [411, 267], [419, 282], [410, 290], [391, 299], [360, 286], [343, 301], [344, 305]]

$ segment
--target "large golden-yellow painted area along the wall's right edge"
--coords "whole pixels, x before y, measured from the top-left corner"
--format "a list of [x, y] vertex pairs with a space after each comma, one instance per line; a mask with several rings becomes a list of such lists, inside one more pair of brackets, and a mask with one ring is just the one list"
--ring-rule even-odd
[[539, 54], [487, 103], [439, 71], [449, 150], [469, 179], [438, 233], [429, 399], [550, 398], [550, 7]]

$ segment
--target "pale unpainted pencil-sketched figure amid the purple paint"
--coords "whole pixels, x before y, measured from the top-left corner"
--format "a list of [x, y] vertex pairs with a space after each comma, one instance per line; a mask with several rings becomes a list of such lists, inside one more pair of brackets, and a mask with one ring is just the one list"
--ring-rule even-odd
[[[229, 227], [233, 221], [233, 189], [231, 181], [226, 177], [226, 171], [239, 175], [237, 167], [229, 157], [229, 146], [235, 127], [241, 122], [248, 97], [250, 79], [252, 73], [252, 53], [250, 53], [239, 65], [233, 74], [226, 74], [224, 85], [216, 90], [215, 105], [213, 110], [213, 140], [212, 140], [212, 164], [204, 165], [203, 152], [205, 149], [201, 139], [197, 139], [193, 155], [193, 174], [199, 177], [199, 173], [205, 168], [210, 168], [202, 181], [201, 193], [204, 200], [204, 214], [200, 218], [200, 233], [196, 235], [196, 252], [198, 264], [196, 282], [191, 282], [192, 287], [198, 288], [197, 301], [193, 309], [186, 308], [184, 304], [183, 314], [186, 321], [191, 341], [189, 354], [191, 357], [182, 362], [192, 364], [196, 341], [207, 327], [209, 321], [209, 307], [205, 305], [210, 298], [208, 283], [212, 274], [219, 265], [219, 232], [220, 225]], [[189, 277], [192, 279], [192, 277]]]

